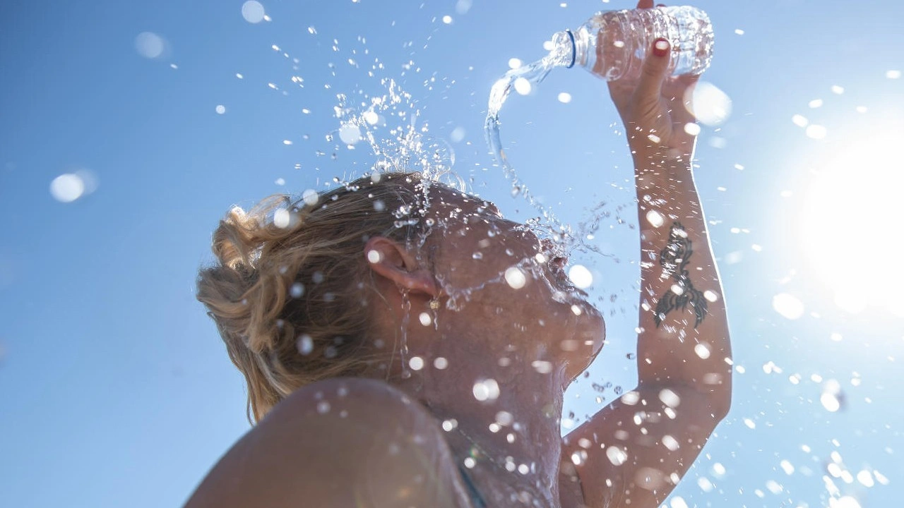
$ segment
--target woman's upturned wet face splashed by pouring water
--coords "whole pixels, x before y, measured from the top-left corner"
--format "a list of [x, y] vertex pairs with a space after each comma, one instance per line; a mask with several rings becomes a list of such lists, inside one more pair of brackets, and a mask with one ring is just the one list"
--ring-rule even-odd
[[605, 324], [571, 285], [556, 244], [505, 220], [492, 203], [446, 189], [431, 193], [429, 262], [447, 311], [483, 330], [491, 347], [517, 348], [528, 361], [564, 368], [569, 381], [577, 377], [602, 347]]

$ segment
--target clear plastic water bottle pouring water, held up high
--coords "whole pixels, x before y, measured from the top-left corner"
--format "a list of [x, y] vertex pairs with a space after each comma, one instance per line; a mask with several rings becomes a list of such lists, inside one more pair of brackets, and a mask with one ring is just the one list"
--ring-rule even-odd
[[551, 57], [558, 65], [579, 65], [603, 80], [636, 80], [646, 52], [659, 38], [672, 44], [673, 76], [709, 68], [714, 42], [710, 17], [687, 6], [595, 14], [573, 32], [556, 33]]

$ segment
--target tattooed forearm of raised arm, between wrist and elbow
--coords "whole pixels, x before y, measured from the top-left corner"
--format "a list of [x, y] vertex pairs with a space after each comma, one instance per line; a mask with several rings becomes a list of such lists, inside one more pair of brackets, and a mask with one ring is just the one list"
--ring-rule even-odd
[[678, 384], [730, 404], [731, 345], [719, 271], [690, 160], [636, 152], [641, 230], [640, 384]]

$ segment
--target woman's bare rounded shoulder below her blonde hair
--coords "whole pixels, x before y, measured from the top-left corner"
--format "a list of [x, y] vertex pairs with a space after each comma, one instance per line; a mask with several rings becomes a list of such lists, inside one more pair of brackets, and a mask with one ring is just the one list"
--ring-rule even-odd
[[186, 508], [459, 506], [438, 422], [381, 381], [297, 390], [213, 467]]

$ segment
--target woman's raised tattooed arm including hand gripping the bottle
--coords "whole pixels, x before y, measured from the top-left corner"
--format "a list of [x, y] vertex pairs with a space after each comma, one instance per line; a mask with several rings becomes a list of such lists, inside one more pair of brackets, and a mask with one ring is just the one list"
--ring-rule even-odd
[[563, 442], [562, 492], [579, 484], [594, 508], [659, 506], [730, 408], [728, 319], [685, 129], [696, 79], [665, 80], [667, 63], [654, 54], [636, 86], [610, 86], [636, 168], [641, 331], [637, 388]]

